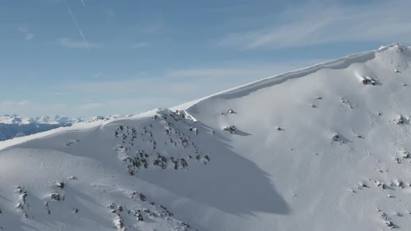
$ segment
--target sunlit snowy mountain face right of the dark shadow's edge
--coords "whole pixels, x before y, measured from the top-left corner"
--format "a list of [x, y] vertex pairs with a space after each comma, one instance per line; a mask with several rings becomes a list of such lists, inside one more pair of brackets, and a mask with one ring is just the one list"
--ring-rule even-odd
[[176, 107], [222, 134], [290, 207], [228, 230], [410, 229], [410, 62], [391, 45]]

